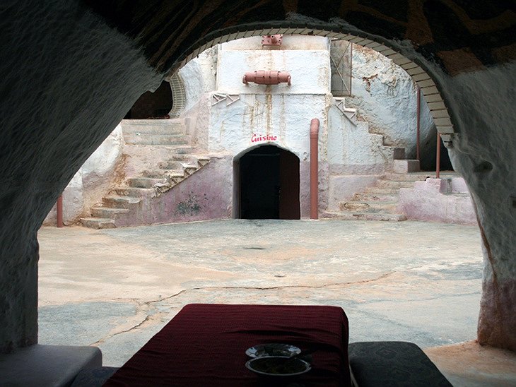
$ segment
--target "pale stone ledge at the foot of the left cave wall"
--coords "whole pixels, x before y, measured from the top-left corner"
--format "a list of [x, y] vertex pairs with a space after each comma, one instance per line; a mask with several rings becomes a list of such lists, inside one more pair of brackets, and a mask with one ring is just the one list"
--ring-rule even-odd
[[98, 347], [31, 345], [0, 355], [0, 386], [70, 386], [79, 371], [98, 367]]

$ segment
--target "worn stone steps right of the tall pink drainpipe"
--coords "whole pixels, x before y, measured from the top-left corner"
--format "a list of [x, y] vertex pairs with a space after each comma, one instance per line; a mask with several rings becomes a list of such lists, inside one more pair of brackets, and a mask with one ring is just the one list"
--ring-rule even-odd
[[344, 220], [406, 220], [399, 208], [399, 189], [414, 188], [416, 181], [425, 181], [433, 172], [389, 172], [354, 194], [349, 201], [339, 203], [339, 211], [327, 211], [324, 218]]

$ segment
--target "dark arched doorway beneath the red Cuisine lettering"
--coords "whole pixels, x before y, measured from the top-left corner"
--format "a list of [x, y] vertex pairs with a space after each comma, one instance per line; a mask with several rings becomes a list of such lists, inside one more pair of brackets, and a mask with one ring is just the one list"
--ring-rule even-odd
[[240, 157], [238, 195], [241, 219], [300, 219], [299, 158], [264, 145]]

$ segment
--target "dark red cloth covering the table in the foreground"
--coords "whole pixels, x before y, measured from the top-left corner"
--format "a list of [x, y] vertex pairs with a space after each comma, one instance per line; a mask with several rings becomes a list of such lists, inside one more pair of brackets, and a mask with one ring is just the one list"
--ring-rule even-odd
[[264, 343], [316, 350], [312, 369], [296, 379], [304, 386], [350, 385], [340, 307], [189, 304], [105, 386], [269, 386], [245, 367], [245, 350]]

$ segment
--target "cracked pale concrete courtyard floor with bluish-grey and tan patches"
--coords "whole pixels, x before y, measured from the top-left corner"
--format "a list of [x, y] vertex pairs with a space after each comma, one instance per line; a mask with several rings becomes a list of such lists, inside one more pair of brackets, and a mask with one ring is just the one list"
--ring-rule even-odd
[[216, 220], [43, 227], [38, 240], [40, 343], [98, 345], [108, 366], [191, 302], [338, 305], [352, 342], [428, 348], [476, 338], [478, 227]]

